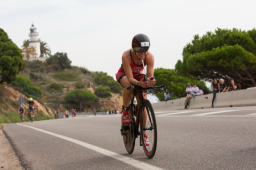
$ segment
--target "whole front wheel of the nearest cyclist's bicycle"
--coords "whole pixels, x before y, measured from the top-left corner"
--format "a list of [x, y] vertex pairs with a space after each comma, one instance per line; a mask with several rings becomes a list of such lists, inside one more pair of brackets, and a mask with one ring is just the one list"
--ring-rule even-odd
[[[142, 114], [143, 113], [143, 114]], [[153, 158], [156, 152], [158, 134], [156, 129], [155, 113], [150, 101], [144, 100], [141, 112], [141, 140], [143, 150], [148, 158]], [[150, 145], [146, 145], [144, 135], [147, 135]]]

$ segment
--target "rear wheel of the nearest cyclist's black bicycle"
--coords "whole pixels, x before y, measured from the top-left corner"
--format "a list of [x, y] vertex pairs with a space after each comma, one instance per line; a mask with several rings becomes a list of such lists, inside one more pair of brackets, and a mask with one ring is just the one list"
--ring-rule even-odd
[[[134, 135], [134, 124], [135, 124], [135, 121], [134, 121], [134, 118], [133, 118], [133, 113], [134, 113], [134, 105], [131, 105], [130, 107], [130, 111], [129, 111], [129, 116], [130, 116], [130, 119], [131, 119], [131, 124], [128, 125], [128, 124], [124, 124], [123, 125], [123, 122], [122, 122], [122, 129], [123, 129], [123, 143], [125, 144], [125, 148], [126, 148], [126, 151], [131, 154], [133, 153], [134, 151], [134, 146], [135, 146], [135, 135]], [[121, 121], [122, 121], [122, 116], [121, 116]]]

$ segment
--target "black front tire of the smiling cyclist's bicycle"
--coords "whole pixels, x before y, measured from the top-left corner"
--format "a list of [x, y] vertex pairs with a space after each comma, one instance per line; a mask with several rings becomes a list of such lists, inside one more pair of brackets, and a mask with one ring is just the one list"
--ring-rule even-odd
[[[143, 111], [144, 111], [144, 108], [146, 108], [146, 110], [147, 110], [147, 120], [149, 120], [148, 119], [148, 114], [150, 114], [152, 127], [154, 129], [150, 130], [150, 132], [148, 132], [148, 134], [147, 134], [147, 131], [149, 131], [149, 130], [146, 130], [146, 134], [148, 135], [148, 140], [150, 141], [150, 145], [146, 146], [146, 143], [144, 141], [144, 133], [143, 133], [143, 125], [144, 125], [143, 124], [143, 119], [144, 118], [143, 118], [142, 112], [141, 112], [141, 122], [140, 122], [141, 141], [142, 141], [143, 150], [144, 150], [145, 154], [147, 155], [148, 158], [151, 159], [155, 155], [157, 140], [158, 140], [158, 134], [157, 134], [157, 128], [156, 128], [156, 118], [155, 118], [154, 109], [153, 109], [150, 101], [148, 101], [148, 100], [143, 101], [143, 107], [142, 107]], [[150, 112], [150, 113], [148, 113], [148, 112]], [[148, 121], [148, 122], [150, 122], [150, 121]], [[147, 122], [146, 126], [151, 126], [151, 124], [148, 124], [148, 122]], [[153, 134], [151, 133], [152, 131], [153, 131]], [[153, 140], [152, 140], [152, 138], [153, 138]]]

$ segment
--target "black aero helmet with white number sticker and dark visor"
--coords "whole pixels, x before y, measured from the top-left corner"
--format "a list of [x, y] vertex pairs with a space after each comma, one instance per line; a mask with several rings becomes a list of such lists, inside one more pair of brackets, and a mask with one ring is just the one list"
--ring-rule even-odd
[[148, 36], [139, 33], [133, 37], [133, 41], [131, 41], [131, 48], [138, 53], [146, 53], [150, 47], [150, 40]]

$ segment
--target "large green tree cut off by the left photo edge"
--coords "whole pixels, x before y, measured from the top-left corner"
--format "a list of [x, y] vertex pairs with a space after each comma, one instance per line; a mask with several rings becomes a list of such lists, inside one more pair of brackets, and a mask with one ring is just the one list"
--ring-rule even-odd
[[9, 39], [7, 33], [0, 28], [0, 83], [11, 83], [19, 71], [24, 70], [21, 50]]

